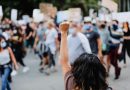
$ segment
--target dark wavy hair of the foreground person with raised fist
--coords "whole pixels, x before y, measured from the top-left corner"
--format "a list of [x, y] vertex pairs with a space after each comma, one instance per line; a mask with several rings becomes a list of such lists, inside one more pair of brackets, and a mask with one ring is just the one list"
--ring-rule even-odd
[[72, 65], [75, 88], [107, 90], [106, 69], [96, 55], [82, 54]]

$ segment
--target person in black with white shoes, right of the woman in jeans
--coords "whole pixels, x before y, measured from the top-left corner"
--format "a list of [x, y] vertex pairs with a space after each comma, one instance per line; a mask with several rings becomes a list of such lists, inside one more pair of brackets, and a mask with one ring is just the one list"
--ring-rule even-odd
[[[29, 67], [27, 67], [23, 61], [23, 58], [26, 56], [26, 49], [24, 46], [24, 34], [23, 30], [26, 27], [24, 24], [21, 24], [18, 28], [15, 27], [13, 29], [13, 35], [11, 37], [11, 48], [14, 52], [17, 62], [23, 67], [23, 73], [29, 71]], [[26, 28], [25, 28], [26, 29]], [[13, 70], [12, 76], [15, 76], [17, 71]]]

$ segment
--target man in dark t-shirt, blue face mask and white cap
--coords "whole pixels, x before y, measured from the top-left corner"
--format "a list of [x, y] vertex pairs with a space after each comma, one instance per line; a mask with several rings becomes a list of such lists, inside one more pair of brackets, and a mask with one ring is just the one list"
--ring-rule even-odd
[[83, 31], [84, 35], [89, 40], [92, 53], [97, 55], [102, 61], [102, 41], [98, 32], [93, 30], [91, 19], [86, 19], [85, 25], [83, 26]]

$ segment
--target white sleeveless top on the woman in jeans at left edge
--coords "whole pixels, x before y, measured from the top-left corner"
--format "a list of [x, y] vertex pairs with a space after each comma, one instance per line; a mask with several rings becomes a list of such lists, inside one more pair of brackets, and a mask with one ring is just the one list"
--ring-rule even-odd
[[10, 62], [10, 55], [8, 49], [0, 52], [0, 65], [6, 65]]

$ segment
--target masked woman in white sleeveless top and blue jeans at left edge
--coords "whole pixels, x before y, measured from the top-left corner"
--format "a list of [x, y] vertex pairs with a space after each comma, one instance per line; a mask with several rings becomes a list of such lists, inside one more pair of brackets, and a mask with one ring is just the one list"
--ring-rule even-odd
[[12, 70], [11, 62], [14, 63], [15, 69], [17, 70], [18, 65], [12, 49], [8, 47], [5, 38], [0, 35], [0, 74], [2, 77], [1, 90], [11, 90], [10, 83], [8, 81], [9, 75]]

